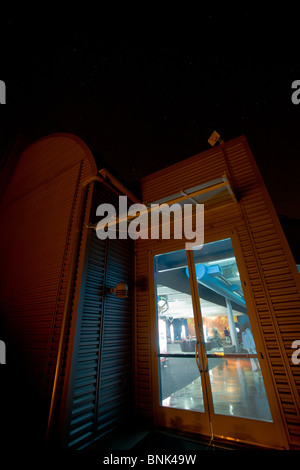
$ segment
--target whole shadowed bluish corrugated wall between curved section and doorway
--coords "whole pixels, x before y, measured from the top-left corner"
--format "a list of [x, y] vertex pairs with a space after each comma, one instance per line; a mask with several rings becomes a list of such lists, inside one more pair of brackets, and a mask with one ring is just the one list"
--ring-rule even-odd
[[[91, 222], [99, 203], [118, 207], [116, 194], [95, 185]], [[99, 240], [90, 229], [80, 286], [64, 445], [82, 449], [124, 423], [132, 410], [133, 243]], [[126, 299], [107, 294], [118, 282]]]

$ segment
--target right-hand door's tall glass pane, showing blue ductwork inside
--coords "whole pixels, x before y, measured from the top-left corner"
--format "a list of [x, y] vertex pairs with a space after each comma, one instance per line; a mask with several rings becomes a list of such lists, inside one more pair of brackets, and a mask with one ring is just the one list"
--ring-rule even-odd
[[272, 421], [231, 240], [194, 260], [214, 412]]

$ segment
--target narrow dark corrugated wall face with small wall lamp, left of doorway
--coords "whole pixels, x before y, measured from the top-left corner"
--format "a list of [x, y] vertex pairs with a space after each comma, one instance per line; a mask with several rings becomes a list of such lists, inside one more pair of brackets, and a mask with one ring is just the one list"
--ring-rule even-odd
[[104, 328], [100, 370], [97, 431], [104, 435], [132, 412], [132, 294], [133, 242], [110, 240], [106, 285], [128, 284], [128, 298], [108, 295], [104, 309]]

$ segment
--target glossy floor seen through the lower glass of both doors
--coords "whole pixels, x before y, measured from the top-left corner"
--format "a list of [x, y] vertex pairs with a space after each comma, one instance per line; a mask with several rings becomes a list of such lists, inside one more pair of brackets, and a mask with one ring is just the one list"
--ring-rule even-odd
[[[209, 377], [214, 412], [241, 418], [272, 421], [260, 369], [251, 359], [226, 359], [214, 367], [209, 359]], [[162, 401], [163, 406], [204, 411], [200, 378]]]

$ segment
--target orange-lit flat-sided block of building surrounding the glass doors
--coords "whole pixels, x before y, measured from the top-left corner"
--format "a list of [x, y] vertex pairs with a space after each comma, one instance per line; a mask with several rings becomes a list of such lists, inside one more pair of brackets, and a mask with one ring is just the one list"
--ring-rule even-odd
[[[225, 176], [230, 184], [227, 191], [226, 187], [224, 191], [214, 190]], [[250, 422], [239, 418], [227, 423], [225, 416], [214, 415], [214, 435], [299, 448], [300, 367], [291, 358], [292, 343], [300, 338], [300, 276], [246, 138], [231, 140], [141, 180], [142, 199], [147, 203], [177, 201], [191, 193], [190, 188], [194, 188], [194, 194], [196, 190], [202, 194], [198, 202], [204, 203], [204, 243], [232, 240], [276, 421], [276, 437], [269, 439], [266, 434], [273, 436], [273, 430], [268, 426], [260, 431], [257, 422], [251, 427]], [[205, 434], [207, 428], [201, 431], [201, 418], [195, 422], [192, 413], [185, 419], [183, 414], [188, 412], [160, 406], [157, 392], [159, 346], [153, 258], [184, 247], [185, 241], [178, 239], [140, 239], [136, 243], [136, 407], [141, 416], [154, 416], [156, 424]], [[207, 383], [207, 378], [203, 381]]]

